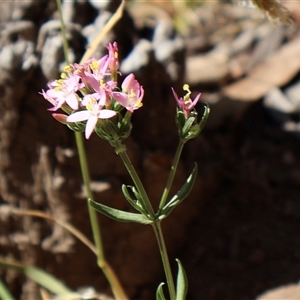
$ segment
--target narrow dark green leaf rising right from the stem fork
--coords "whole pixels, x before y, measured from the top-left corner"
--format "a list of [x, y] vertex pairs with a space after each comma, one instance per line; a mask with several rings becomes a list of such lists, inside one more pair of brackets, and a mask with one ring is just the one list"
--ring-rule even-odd
[[170, 214], [170, 212], [189, 195], [196, 181], [197, 172], [198, 167], [197, 164], [195, 164], [191, 175], [188, 177], [177, 194], [163, 207], [158, 215], [158, 219], [161, 220], [166, 218]]

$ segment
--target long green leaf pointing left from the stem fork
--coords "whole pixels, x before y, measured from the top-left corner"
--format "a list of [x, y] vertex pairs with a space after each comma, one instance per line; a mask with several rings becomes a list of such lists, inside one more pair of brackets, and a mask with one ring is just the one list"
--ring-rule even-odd
[[115, 209], [97, 203], [92, 199], [89, 199], [89, 205], [95, 210], [97, 210], [98, 212], [104, 214], [105, 216], [119, 222], [134, 222], [134, 223], [140, 223], [144, 225], [153, 223], [152, 220], [148, 219], [146, 216], [142, 214], [135, 214], [135, 213], [130, 213], [123, 210]]

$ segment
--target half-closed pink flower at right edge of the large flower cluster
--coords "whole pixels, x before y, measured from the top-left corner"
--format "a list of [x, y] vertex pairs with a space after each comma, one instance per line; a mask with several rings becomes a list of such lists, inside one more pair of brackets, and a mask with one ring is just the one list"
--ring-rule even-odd
[[129, 74], [122, 83], [122, 92], [112, 92], [112, 96], [123, 107], [133, 112], [143, 105], [144, 89], [135, 76]]

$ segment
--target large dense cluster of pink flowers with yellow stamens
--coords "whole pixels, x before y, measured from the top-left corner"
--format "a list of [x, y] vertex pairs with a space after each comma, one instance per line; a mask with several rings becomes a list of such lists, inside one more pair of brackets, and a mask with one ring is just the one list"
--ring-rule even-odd
[[122, 108], [133, 113], [142, 106], [144, 89], [133, 74], [124, 79], [121, 90], [117, 87], [117, 43], [109, 44], [107, 49], [108, 55], [99, 60], [66, 66], [60, 79], [48, 83], [49, 89], [41, 92], [53, 105], [50, 111], [61, 108], [67, 113], [53, 113], [53, 117], [74, 130], [84, 128], [87, 139], [94, 130], [97, 132], [101, 119], [120, 115]]

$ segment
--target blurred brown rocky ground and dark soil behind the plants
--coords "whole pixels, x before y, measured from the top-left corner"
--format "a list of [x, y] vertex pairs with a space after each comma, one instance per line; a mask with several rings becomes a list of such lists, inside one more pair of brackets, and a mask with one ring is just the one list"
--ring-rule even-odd
[[[97, 4], [65, 3], [74, 62], [119, 3]], [[300, 11], [285, 4], [293, 25], [233, 4], [131, 2], [103, 41], [102, 48], [118, 42], [122, 73], [135, 72], [146, 91], [126, 145], [154, 203], [177, 143], [170, 87], [179, 93], [188, 82], [211, 107], [174, 185], [197, 162], [195, 189], [163, 223], [191, 300], [255, 299], [300, 279]], [[8, 206], [41, 210], [91, 238], [73, 132], [53, 120], [38, 94], [63, 63], [55, 2], [0, 6], [0, 256], [43, 268], [74, 290], [110, 294], [93, 254], [60, 226], [5, 213]], [[96, 136], [86, 149], [95, 199], [129, 209], [120, 186], [130, 178], [113, 149]], [[107, 259], [130, 298], [154, 299], [164, 275], [151, 230], [100, 219]], [[0, 275], [16, 299], [40, 299], [25, 277], [4, 268]]]

